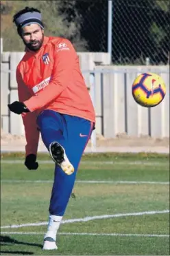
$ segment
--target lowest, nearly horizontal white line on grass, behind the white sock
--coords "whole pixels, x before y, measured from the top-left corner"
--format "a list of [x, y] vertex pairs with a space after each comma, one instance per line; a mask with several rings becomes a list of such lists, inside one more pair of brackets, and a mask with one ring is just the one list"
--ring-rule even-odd
[[[44, 235], [42, 232], [1, 232], [2, 235]], [[95, 235], [114, 237], [169, 237], [169, 235], [157, 234], [119, 234], [119, 233], [58, 233], [58, 235]]]

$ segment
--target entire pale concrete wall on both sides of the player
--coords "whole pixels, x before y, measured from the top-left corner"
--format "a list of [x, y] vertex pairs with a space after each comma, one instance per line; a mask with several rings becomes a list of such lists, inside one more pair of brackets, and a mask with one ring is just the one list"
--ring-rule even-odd
[[[7, 105], [18, 100], [15, 71], [23, 54], [1, 52], [1, 127], [17, 135], [24, 134], [23, 122], [21, 116], [8, 111]], [[78, 56], [95, 104], [97, 133], [106, 138], [121, 133], [169, 137], [169, 67], [110, 66], [107, 53], [79, 52]], [[141, 72], [155, 72], [165, 80], [167, 94], [157, 107], [141, 107], [132, 98], [132, 83]]]

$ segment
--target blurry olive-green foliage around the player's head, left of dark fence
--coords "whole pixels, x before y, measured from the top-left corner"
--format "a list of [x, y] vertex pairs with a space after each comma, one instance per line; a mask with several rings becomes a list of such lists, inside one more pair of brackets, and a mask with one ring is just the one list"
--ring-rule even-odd
[[86, 50], [86, 41], [81, 38], [79, 17], [68, 21], [60, 9], [60, 1], [1, 1], [1, 37], [5, 51], [23, 51], [24, 45], [19, 38], [12, 22], [13, 15], [25, 6], [38, 8], [42, 12], [45, 34], [47, 36], [62, 36], [71, 39], [77, 51]]

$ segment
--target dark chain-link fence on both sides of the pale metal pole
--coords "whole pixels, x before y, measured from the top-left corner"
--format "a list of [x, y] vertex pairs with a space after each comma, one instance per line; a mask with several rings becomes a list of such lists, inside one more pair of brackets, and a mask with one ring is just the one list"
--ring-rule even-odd
[[[112, 32], [112, 63], [167, 64], [170, 45], [169, 0], [112, 0], [112, 25], [108, 28], [108, 1], [64, 1], [62, 11], [79, 28], [90, 52], [108, 52]], [[76, 14], [77, 16], [76, 16]]]

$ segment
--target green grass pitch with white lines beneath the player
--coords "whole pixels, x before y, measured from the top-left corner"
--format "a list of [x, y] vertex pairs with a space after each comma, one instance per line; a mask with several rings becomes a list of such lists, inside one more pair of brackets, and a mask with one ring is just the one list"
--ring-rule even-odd
[[84, 155], [53, 251], [42, 242], [54, 163], [23, 160], [1, 155], [1, 255], [169, 255], [168, 155]]

